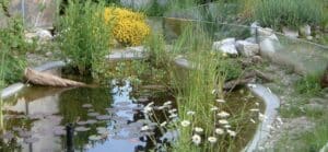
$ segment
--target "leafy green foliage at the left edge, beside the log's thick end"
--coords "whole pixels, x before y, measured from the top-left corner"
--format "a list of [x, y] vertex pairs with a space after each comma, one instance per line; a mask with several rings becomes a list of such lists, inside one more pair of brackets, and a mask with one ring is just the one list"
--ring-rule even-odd
[[0, 87], [19, 81], [25, 68], [25, 52], [32, 45], [24, 39], [21, 19], [11, 19], [7, 27], [0, 28]]

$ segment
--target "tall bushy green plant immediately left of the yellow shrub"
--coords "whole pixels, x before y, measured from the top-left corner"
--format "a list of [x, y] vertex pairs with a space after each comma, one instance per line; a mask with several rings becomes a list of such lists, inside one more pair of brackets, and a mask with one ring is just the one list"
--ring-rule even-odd
[[105, 4], [70, 0], [60, 19], [60, 47], [81, 74], [97, 73], [109, 52], [110, 23], [105, 22]]

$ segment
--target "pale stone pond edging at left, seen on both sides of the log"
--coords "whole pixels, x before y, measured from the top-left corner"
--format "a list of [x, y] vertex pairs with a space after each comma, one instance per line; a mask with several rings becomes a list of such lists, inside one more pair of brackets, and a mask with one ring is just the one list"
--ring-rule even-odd
[[[47, 71], [47, 70], [52, 70], [56, 68], [62, 68], [66, 65], [67, 63], [65, 61], [50, 61], [45, 65], [35, 67], [33, 69], [36, 71]], [[24, 89], [24, 86], [25, 86], [25, 84], [22, 82], [11, 84], [1, 91], [0, 98], [4, 100], [7, 97], [10, 97], [10, 96], [14, 95], [15, 93], [20, 92], [22, 89]]]

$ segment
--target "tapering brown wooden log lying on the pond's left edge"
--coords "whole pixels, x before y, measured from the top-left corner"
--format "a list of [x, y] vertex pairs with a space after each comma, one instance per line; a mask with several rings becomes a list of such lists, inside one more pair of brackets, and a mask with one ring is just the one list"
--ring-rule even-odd
[[24, 77], [28, 83], [47, 86], [85, 86], [85, 83], [63, 79], [45, 72], [38, 72], [30, 68], [25, 69]]

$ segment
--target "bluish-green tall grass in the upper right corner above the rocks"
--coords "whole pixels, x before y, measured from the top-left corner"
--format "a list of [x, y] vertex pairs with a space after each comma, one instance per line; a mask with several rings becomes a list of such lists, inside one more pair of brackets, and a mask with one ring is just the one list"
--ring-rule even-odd
[[297, 27], [323, 22], [323, 3], [314, 0], [262, 0], [255, 4], [255, 19], [263, 26]]

